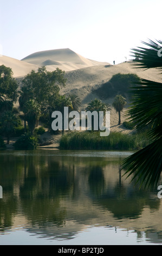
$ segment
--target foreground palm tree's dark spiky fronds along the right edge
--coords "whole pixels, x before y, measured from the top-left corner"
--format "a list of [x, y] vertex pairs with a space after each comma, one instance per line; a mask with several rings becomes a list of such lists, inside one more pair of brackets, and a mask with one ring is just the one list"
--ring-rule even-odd
[[[162, 70], [162, 58], [159, 44], [162, 41], [143, 42], [148, 47], [132, 49], [139, 60], [138, 67], [158, 68]], [[151, 125], [148, 136], [151, 140], [147, 147], [127, 157], [122, 162], [122, 169], [126, 169], [127, 176], [138, 177], [138, 181], [145, 187], [153, 189], [157, 186], [162, 170], [162, 83], [139, 78], [138, 86], [132, 90], [132, 105], [128, 110], [131, 120], [139, 130]]]

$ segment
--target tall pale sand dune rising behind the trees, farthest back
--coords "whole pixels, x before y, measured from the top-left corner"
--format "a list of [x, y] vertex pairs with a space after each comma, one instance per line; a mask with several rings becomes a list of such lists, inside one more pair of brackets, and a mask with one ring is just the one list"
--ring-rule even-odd
[[86, 59], [80, 54], [66, 48], [35, 52], [22, 60], [2, 56], [0, 57], [0, 65], [10, 67], [14, 72], [14, 77], [23, 77], [31, 70], [37, 70], [41, 66], [46, 66], [48, 71], [54, 71], [56, 68], [64, 71], [73, 71], [90, 66], [109, 65], [109, 63]]

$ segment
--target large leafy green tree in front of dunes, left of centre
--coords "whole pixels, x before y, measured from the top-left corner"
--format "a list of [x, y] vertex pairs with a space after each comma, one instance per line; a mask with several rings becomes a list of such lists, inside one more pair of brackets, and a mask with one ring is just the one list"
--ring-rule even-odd
[[[25, 111], [25, 102], [34, 100], [35, 103], [37, 102], [41, 106], [41, 113], [47, 117], [47, 123], [49, 124], [49, 115], [56, 107], [57, 99], [60, 96], [60, 88], [66, 86], [64, 71], [57, 68], [53, 72], [48, 72], [46, 67], [42, 66], [42, 68], [38, 68], [37, 72], [32, 70], [24, 77], [22, 83], [19, 100], [21, 110]], [[40, 117], [40, 115], [37, 115], [37, 117]], [[27, 120], [25, 118], [26, 115], [24, 115], [24, 126]]]

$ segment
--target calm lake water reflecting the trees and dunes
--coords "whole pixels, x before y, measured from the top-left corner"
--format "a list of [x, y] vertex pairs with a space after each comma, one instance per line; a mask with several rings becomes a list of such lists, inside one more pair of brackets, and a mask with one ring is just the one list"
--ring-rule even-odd
[[122, 177], [130, 152], [0, 151], [0, 245], [162, 243], [162, 199]]

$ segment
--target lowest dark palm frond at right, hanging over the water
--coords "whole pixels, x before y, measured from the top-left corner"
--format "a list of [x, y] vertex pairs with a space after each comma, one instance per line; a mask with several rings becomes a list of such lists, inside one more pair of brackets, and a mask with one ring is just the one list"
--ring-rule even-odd
[[162, 171], [162, 138], [154, 141], [144, 149], [127, 157], [122, 162], [122, 169], [126, 169], [124, 175], [134, 175], [140, 185], [145, 184], [151, 190], [157, 186]]

